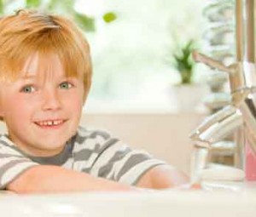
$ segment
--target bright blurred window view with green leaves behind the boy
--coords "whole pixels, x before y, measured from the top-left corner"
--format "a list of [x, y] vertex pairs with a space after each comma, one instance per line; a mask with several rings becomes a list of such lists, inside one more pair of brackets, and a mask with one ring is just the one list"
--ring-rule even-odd
[[[181, 79], [168, 61], [177, 47], [173, 35], [181, 44], [199, 42], [203, 5], [204, 0], [0, 0], [0, 14], [30, 8], [73, 19], [90, 42], [90, 103], [164, 105], [168, 87]], [[202, 72], [197, 70], [195, 81]]]

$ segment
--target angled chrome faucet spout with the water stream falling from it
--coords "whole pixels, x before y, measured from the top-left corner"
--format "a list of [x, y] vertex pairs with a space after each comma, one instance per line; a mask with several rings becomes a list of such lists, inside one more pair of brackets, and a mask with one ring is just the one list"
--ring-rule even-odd
[[[235, 106], [225, 106], [222, 110], [212, 114], [190, 135], [194, 143], [194, 155], [191, 158], [192, 183], [201, 181], [201, 171], [207, 168], [209, 152], [213, 144], [222, 140], [224, 136], [232, 133], [243, 125], [241, 112]], [[243, 161], [238, 155], [237, 161]]]

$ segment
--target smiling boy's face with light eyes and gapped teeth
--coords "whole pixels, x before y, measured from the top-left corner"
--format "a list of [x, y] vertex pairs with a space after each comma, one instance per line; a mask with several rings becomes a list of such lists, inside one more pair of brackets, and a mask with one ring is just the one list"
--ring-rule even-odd
[[15, 145], [29, 155], [46, 157], [59, 153], [75, 134], [84, 84], [79, 77], [65, 76], [55, 54], [38, 64], [34, 54], [15, 82], [0, 82], [0, 115]]

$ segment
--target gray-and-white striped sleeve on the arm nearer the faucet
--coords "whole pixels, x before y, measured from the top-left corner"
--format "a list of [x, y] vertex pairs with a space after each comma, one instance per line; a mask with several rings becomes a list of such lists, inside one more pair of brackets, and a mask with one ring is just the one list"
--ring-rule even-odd
[[128, 185], [136, 185], [148, 169], [160, 164], [166, 163], [155, 159], [147, 151], [132, 150], [122, 141], [108, 136], [101, 146], [101, 151], [90, 174]]

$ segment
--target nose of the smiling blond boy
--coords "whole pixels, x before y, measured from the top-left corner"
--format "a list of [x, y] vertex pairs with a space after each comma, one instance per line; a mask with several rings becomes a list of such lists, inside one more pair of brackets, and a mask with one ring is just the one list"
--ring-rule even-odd
[[57, 90], [44, 90], [43, 110], [59, 110], [61, 108], [60, 96]]

